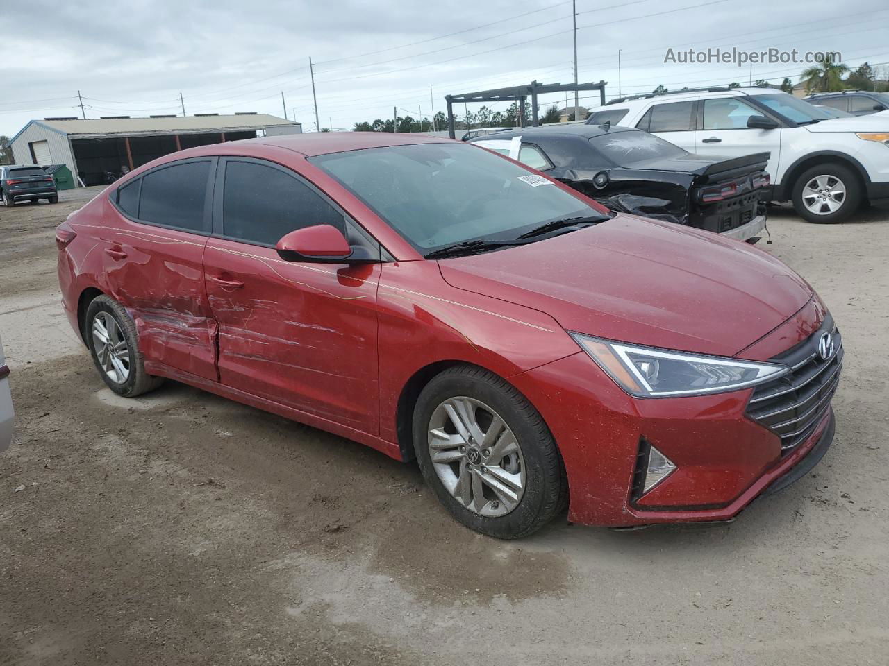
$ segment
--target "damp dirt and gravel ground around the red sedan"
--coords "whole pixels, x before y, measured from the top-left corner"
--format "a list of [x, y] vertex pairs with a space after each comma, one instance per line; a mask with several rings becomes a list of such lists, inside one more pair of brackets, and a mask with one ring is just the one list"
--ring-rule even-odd
[[0, 663], [889, 663], [889, 211], [773, 210], [767, 249], [846, 346], [812, 474], [730, 525], [563, 517], [504, 543], [448, 518], [415, 465], [183, 385], [108, 392], [52, 242], [95, 192], [0, 208]]

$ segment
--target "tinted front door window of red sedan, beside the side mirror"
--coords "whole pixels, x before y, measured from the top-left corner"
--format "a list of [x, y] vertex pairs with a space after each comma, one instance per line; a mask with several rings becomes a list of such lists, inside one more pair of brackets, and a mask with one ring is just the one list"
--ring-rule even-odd
[[222, 195], [222, 234], [274, 247], [305, 226], [332, 225], [345, 233], [343, 214], [296, 175], [276, 166], [228, 160]]

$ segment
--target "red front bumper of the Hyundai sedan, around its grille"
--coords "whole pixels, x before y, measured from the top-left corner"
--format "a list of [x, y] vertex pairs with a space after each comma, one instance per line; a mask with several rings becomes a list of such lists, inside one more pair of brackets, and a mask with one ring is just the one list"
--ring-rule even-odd
[[[807, 321], [809, 315], [817, 321], [812, 304], [800, 313]], [[779, 327], [744, 358], [765, 361], [793, 340], [787, 326]], [[828, 408], [805, 440], [782, 454], [781, 438], [748, 414], [751, 389], [638, 400], [582, 352], [510, 377], [510, 382], [549, 425], [568, 476], [569, 519], [585, 525], [732, 519], [767, 488], [783, 488], [805, 476], [833, 439], [834, 416]], [[667, 456], [676, 470], [637, 498], [633, 485], [644, 442]]]

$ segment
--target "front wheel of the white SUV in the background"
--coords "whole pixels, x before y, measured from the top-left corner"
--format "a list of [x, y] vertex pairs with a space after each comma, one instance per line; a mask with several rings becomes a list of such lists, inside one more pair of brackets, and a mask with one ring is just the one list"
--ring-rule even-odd
[[849, 218], [861, 205], [861, 182], [843, 164], [826, 163], [806, 169], [794, 183], [793, 207], [806, 222], [833, 225]]

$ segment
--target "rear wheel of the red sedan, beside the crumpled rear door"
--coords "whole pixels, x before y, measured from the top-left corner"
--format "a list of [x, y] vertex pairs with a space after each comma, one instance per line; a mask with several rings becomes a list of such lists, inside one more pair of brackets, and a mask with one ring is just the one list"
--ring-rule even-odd
[[163, 383], [145, 371], [136, 324], [114, 298], [95, 297], [86, 309], [85, 334], [92, 362], [117, 395], [135, 398]]

